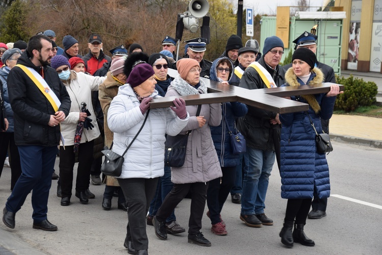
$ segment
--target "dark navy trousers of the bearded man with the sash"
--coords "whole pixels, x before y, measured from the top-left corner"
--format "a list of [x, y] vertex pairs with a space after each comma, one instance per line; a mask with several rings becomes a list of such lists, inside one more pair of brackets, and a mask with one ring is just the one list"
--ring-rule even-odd
[[34, 222], [47, 219], [49, 189], [52, 183], [57, 146], [38, 145], [18, 146], [21, 163], [21, 176], [9, 196], [7, 211], [16, 213], [21, 209], [26, 196], [32, 192], [32, 218]]

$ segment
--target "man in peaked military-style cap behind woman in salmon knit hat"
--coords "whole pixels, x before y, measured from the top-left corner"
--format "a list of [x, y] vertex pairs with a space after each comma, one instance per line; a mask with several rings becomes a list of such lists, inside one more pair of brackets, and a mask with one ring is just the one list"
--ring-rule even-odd
[[211, 69], [212, 62], [203, 59], [207, 39], [199, 37], [184, 42], [188, 44], [186, 57], [199, 62], [200, 68], [202, 69], [200, 77], [209, 78], [209, 70]]

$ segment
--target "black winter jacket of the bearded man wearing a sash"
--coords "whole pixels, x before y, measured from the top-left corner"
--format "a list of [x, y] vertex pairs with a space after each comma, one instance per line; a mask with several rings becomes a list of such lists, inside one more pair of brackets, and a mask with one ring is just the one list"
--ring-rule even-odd
[[[25, 50], [17, 64], [31, 67], [40, 75], [61, 101], [59, 111], [68, 116], [70, 97], [56, 70], [50, 66], [35, 66]], [[8, 74], [8, 93], [14, 113], [14, 135], [16, 145], [56, 146], [60, 142], [60, 125], [49, 126], [53, 107], [36, 84], [18, 66]]]

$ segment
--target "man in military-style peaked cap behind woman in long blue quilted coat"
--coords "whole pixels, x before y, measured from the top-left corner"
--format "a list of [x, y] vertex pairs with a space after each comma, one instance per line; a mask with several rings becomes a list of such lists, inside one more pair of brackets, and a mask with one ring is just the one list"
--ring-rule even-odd
[[[317, 51], [317, 38], [318, 36], [313, 35], [307, 31], [305, 31], [301, 36], [297, 37], [293, 42], [296, 44], [294, 49], [297, 48], [309, 48], [316, 54]], [[325, 65], [324, 63], [318, 62], [316, 63], [316, 66], [321, 69], [323, 75], [324, 75], [324, 82], [336, 82], [336, 78], [334, 76], [334, 70], [329, 65]], [[288, 64], [283, 66], [284, 70], [288, 70], [290, 67], [292, 67], [292, 64]], [[324, 120], [321, 119], [321, 125], [322, 130], [326, 134], [329, 134], [329, 119]], [[320, 219], [324, 216], [326, 216], [326, 206], [328, 205], [328, 198], [318, 198], [316, 196], [317, 194], [314, 194], [314, 198], [312, 201], [312, 211], [308, 214], [309, 219]]]

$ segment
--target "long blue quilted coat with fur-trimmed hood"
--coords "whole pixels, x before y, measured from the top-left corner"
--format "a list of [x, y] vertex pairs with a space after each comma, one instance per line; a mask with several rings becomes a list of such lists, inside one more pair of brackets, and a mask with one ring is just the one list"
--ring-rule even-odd
[[[290, 68], [285, 74], [283, 86], [304, 85]], [[318, 68], [311, 72], [307, 84], [320, 84], [323, 74]], [[333, 114], [335, 96], [325, 93], [307, 96], [291, 96], [292, 100], [309, 104], [308, 114], [318, 133], [322, 133], [320, 118], [330, 119]], [[315, 100], [314, 100], [315, 99]], [[318, 197], [330, 195], [329, 166], [325, 154], [316, 151], [315, 137], [306, 112], [280, 114], [281, 129], [281, 197], [287, 199], [313, 198], [314, 189]]]

